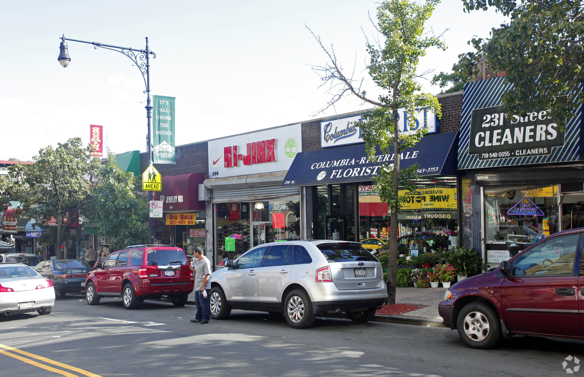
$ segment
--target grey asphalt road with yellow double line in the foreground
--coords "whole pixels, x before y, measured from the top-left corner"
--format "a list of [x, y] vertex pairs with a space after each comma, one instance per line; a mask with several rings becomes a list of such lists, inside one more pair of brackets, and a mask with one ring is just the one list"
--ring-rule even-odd
[[516, 337], [481, 351], [440, 327], [319, 318], [294, 330], [284, 316], [241, 310], [190, 323], [195, 310], [154, 301], [126, 310], [114, 298], [89, 306], [67, 296], [50, 315], [3, 316], [0, 375], [560, 376], [568, 355], [584, 364], [584, 343], [575, 341]]

